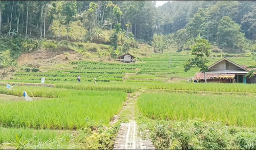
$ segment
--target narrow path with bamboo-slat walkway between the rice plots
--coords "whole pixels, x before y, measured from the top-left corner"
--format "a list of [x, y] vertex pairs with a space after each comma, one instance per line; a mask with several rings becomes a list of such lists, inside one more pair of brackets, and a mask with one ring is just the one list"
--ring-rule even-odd
[[112, 125], [118, 122], [121, 117], [129, 120], [129, 123], [121, 123], [121, 128], [115, 139], [114, 149], [155, 149], [151, 139], [142, 139], [139, 137], [138, 126], [135, 121], [137, 111], [135, 109], [135, 103], [140, 94], [140, 92], [137, 92], [132, 97], [129, 97], [122, 111], [114, 117], [115, 120], [110, 122]]

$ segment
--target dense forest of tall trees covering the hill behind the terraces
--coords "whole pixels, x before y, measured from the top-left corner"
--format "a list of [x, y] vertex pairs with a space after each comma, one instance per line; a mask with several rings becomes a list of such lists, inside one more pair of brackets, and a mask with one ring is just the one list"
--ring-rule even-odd
[[147, 43], [155, 52], [172, 45], [180, 52], [198, 35], [210, 41], [213, 52], [256, 49], [255, 1], [173, 1], [159, 7], [155, 1], [0, 1], [0, 18], [0, 48], [10, 49], [1, 44], [7, 38], [22, 39], [22, 52], [33, 49], [33, 39], [115, 49]]

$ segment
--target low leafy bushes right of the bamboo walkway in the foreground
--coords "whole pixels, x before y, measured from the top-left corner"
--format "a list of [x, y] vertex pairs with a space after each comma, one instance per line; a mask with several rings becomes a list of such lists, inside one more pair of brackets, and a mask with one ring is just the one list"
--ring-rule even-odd
[[256, 130], [227, 128], [201, 119], [157, 121], [142, 117], [141, 130], [150, 130], [156, 149], [255, 149]]

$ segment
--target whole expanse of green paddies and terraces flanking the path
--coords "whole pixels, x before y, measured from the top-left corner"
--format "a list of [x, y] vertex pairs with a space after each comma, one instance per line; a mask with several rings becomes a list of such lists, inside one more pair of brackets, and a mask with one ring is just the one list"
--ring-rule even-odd
[[[253, 64], [247, 55], [228, 56]], [[18, 97], [26, 90], [35, 101], [0, 97], [0, 147], [111, 149], [120, 122], [109, 122], [127, 94], [139, 91], [137, 121], [141, 130], [150, 130], [156, 148], [255, 149], [256, 86], [186, 83], [199, 69], [184, 72], [189, 54], [173, 53], [171, 68], [169, 57], [152, 54], [134, 64], [77, 61], [39, 72], [19, 68], [11, 80], [2, 80], [0, 94]], [[210, 63], [219, 59], [212, 55]], [[43, 77], [53, 86], [17, 85], [40, 84]], [[15, 90], [6, 90], [7, 83]]]

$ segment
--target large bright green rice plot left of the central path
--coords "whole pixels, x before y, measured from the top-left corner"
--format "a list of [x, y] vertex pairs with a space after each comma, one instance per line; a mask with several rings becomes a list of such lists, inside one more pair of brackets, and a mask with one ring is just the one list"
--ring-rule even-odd
[[32, 102], [2, 101], [0, 125], [7, 128], [77, 130], [89, 126], [90, 121], [108, 124], [126, 99], [122, 92], [105, 95], [102, 91], [98, 94], [95, 91], [81, 91], [79, 94], [74, 91], [69, 94]]

